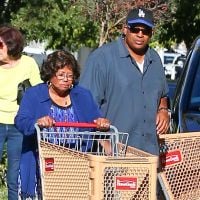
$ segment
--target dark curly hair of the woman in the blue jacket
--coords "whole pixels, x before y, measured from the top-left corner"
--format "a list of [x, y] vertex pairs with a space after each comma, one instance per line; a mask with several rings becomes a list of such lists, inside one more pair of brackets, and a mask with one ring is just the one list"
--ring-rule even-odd
[[41, 79], [48, 82], [59, 69], [70, 67], [74, 74], [75, 80], [80, 76], [80, 66], [75, 57], [65, 50], [55, 51], [47, 56], [40, 70]]

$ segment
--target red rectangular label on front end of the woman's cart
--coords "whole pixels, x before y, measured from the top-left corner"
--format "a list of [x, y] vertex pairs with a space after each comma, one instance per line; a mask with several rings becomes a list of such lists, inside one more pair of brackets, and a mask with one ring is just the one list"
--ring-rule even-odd
[[137, 190], [137, 178], [116, 176], [115, 188], [116, 190]]

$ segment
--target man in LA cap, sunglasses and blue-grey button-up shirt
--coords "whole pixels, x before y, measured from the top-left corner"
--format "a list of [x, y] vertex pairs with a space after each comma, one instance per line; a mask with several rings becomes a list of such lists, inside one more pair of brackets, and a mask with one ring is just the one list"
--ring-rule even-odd
[[103, 116], [129, 133], [130, 146], [158, 155], [157, 134], [169, 128], [168, 86], [161, 59], [148, 45], [153, 27], [150, 10], [130, 10], [122, 36], [89, 55], [80, 84]]

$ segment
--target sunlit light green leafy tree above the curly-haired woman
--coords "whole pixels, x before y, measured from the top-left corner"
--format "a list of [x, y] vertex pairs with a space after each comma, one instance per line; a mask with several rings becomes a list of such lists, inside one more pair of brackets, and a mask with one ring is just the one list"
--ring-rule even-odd
[[47, 41], [47, 48], [69, 48], [97, 45], [97, 26], [80, 15], [81, 6], [69, 1], [27, 1], [18, 13], [12, 13], [12, 24], [21, 27], [28, 41]]

